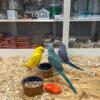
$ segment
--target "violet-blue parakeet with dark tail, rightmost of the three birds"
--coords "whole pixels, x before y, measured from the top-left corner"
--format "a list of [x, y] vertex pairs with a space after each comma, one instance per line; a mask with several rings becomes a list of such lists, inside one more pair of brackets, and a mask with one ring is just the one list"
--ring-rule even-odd
[[73, 68], [76, 68], [76, 69], [79, 69], [79, 70], [83, 70], [82, 68], [76, 66], [75, 64], [73, 64], [70, 60], [69, 60], [69, 57], [68, 57], [68, 53], [67, 53], [67, 50], [66, 50], [66, 47], [64, 44], [61, 44], [60, 47], [59, 47], [59, 50], [58, 50], [58, 55], [59, 57], [61, 58], [61, 60], [63, 60], [64, 63], [72, 66]]

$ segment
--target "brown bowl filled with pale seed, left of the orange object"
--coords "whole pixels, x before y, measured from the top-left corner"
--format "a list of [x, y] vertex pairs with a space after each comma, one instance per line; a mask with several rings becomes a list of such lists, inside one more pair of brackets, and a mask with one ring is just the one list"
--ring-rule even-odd
[[43, 92], [43, 79], [38, 76], [26, 77], [22, 80], [24, 94], [26, 96], [35, 96]]

